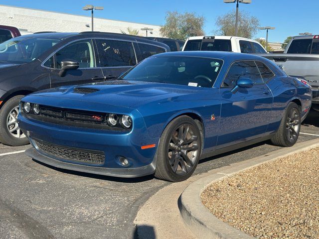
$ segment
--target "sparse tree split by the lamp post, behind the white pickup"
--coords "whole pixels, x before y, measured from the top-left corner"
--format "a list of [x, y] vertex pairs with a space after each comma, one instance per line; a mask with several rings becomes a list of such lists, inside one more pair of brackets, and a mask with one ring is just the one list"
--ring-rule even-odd
[[[216, 33], [225, 36], [235, 35], [236, 11], [230, 11], [216, 18]], [[252, 38], [258, 31], [259, 19], [245, 11], [238, 14], [238, 36]]]

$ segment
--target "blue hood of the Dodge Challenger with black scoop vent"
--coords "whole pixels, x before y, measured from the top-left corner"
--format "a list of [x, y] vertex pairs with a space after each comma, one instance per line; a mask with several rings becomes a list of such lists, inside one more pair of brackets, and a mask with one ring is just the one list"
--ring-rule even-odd
[[[85, 102], [94, 104], [119, 106], [125, 108], [138, 108], [142, 104], [161, 99], [169, 99], [186, 94], [194, 94], [202, 88], [126, 80], [107, 81], [71, 87], [60, 87], [33, 93], [29, 95], [30, 102], [38, 102], [35, 98], [46, 98], [50, 106], [55, 106], [54, 101], [59, 102]], [[53, 105], [52, 105], [53, 104]], [[94, 108], [94, 107], [93, 107]]]

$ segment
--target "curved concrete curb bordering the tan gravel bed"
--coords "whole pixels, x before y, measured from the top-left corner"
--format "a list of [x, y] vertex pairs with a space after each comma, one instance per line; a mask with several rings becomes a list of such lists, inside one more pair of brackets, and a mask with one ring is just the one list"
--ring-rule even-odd
[[181, 194], [178, 208], [182, 220], [197, 238], [253, 239], [253, 237], [220, 221], [202, 204], [200, 195], [212, 183], [260, 164], [319, 146], [319, 139], [298, 143], [246, 161], [221, 168], [191, 183]]

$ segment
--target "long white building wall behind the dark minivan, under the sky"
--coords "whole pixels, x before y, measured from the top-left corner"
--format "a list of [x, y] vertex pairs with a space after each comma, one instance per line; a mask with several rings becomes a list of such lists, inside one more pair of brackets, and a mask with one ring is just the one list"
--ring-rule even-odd
[[[90, 31], [91, 11], [87, 11], [87, 14], [90, 16], [0, 5], [0, 25], [15, 26], [20, 29], [22, 35], [37, 31]], [[86, 24], [90, 27], [85, 26]], [[146, 32], [141, 31], [141, 28], [153, 28], [153, 34], [149, 36], [160, 37], [158, 25], [94, 18], [94, 31], [121, 33], [121, 30], [127, 32], [128, 27], [138, 29], [142, 36], [146, 36]]]

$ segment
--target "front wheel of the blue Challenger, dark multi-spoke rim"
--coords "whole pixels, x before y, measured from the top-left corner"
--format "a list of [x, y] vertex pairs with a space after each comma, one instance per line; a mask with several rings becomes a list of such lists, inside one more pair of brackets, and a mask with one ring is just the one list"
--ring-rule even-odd
[[173, 119], [163, 131], [157, 154], [155, 177], [180, 182], [189, 178], [201, 154], [201, 135], [188, 116]]

